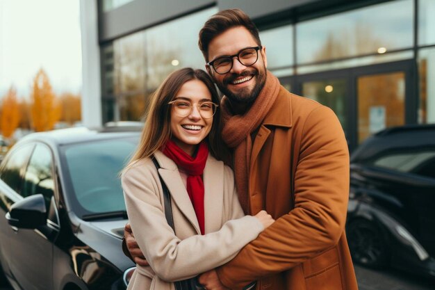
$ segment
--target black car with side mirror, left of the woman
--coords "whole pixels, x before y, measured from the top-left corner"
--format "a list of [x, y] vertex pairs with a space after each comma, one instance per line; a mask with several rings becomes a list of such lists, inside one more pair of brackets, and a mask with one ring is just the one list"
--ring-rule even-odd
[[[108, 132], [110, 131], [110, 132]], [[0, 262], [14, 289], [126, 289], [120, 171], [139, 131], [30, 134], [0, 166]]]

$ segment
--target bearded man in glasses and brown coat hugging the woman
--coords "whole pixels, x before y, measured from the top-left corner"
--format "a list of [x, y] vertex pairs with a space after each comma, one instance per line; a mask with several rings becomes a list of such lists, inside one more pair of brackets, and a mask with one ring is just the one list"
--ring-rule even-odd
[[[349, 153], [336, 115], [280, 86], [241, 10], [208, 19], [199, 48], [225, 95], [222, 136], [233, 149], [240, 204], [247, 214], [265, 209], [276, 220], [199, 282], [207, 289], [245, 289], [253, 281], [267, 290], [357, 289], [344, 229]], [[134, 245], [128, 233], [126, 239]]]

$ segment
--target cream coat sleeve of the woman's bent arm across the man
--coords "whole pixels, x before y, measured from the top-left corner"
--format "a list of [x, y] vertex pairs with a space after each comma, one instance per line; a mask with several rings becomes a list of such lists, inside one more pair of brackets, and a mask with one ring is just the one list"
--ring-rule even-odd
[[131, 228], [153, 271], [165, 281], [184, 280], [232, 259], [263, 230], [253, 216], [229, 220], [210, 234], [179, 239], [167, 224], [156, 170], [136, 166], [122, 175]]

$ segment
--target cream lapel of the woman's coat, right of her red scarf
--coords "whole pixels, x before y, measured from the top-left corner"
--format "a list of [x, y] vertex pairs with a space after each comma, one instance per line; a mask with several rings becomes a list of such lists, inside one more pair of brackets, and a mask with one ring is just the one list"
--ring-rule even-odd
[[205, 232], [216, 232], [222, 226], [224, 206], [224, 165], [208, 155], [204, 168]]

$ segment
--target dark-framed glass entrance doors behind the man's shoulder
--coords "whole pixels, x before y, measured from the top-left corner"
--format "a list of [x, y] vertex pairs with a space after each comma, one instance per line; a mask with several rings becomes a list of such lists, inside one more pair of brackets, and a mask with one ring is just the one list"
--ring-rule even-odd
[[298, 75], [293, 92], [329, 106], [353, 150], [382, 129], [416, 124], [415, 70], [412, 61], [398, 61]]

